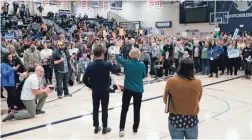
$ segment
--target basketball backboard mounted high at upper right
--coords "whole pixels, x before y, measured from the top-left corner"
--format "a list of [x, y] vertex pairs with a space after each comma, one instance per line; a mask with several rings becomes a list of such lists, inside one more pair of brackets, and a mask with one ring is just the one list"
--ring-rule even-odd
[[[216, 17], [214, 12], [210, 13], [210, 20], [209, 24], [214, 25], [215, 22], [218, 22], [219, 24], [228, 24], [229, 20], [229, 12], [216, 12]], [[216, 21], [214, 20], [216, 18]]]

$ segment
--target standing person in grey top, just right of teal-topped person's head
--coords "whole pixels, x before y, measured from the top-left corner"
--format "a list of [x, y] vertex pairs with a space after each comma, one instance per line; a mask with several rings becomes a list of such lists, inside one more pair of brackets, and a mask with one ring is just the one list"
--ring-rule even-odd
[[[140, 45], [139, 45], [140, 46]], [[146, 43], [146, 40], [143, 40], [143, 45], [142, 47], [140, 47], [141, 50], [141, 56], [140, 56], [140, 60], [144, 63], [145, 65], [145, 70], [146, 70], [146, 77], [148, 77], [148, 65], [151, 61], [150, 59], [150, 52], [151, 52], [151, 48], [150, 46]]]

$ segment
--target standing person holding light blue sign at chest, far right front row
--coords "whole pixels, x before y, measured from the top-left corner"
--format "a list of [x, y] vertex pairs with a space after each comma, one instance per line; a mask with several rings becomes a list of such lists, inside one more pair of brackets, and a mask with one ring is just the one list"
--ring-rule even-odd
[[[237, 41], [234, 40], [232, 44], [230, 44], [227, 48], [228, 54], [228, 71], [230, 72], [231, 77], [237, 76], [238, 66], [239, 66], [239, 57], [240, 57], [240, 50], [237, 47]], [[233, 70], [234, 69], [234, 70]]]

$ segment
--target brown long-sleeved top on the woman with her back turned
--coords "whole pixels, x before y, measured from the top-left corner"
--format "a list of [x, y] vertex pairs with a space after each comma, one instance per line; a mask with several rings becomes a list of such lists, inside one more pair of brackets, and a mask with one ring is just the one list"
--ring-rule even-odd
[[181, 77], [169, 78], [163, 96], [164, 103], [170, 93], [169, 112], [180, 115], [198, 115], [202, 84], [198, 79], [188, 80]]

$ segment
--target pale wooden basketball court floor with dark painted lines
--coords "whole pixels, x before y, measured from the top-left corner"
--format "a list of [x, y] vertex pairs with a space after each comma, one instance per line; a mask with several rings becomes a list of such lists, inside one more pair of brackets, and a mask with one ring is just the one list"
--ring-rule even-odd
[[[240, 74], [241, 75], [241, 74]], [[204, 85], [200, 102], [199, 139], [252, 139], [252, 80], [241, 77], [197, 76]], [[117, 77], [123, 83], [123, 76]], [[165, 81], [147, 79], [141, 106], [141, 121], [137, 135], [132, 133], [133, 106], [126, 121], [125, 137], [119, 138], [121, 93], [111, 93], [108, 124], [112, 131], [94, 134], [92, 126], [91, 90], [77, 84], [70, 87], [73, 97], [57, 99], [49, 95], [44, 106], [46, 114], [33, 119], [1, 124], [3, 139], [170, 139], [168, 114], [162, 95]], [[2, 110], [7, 109], [2, 99]], [[6, 114], [2, 114], [3, 118]], [[101, 120], [101, 114], [100, 114]], [[100, 121], [101, 123], [101, 121]]]

